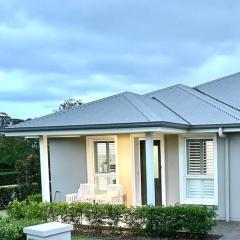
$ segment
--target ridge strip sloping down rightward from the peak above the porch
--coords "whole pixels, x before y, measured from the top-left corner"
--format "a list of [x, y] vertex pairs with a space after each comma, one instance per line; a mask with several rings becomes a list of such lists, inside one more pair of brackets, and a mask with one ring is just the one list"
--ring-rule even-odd
[[[130, 93], [130, 92], [128, 92], [124, 96], [132, 104], [132, 106], [134, 106], [148, 121], [155, 121], [155, 119], [158, 120], [158, 116], [148, 106], [146, 106], [142, 101], [140, 101], [136, 97], [136, 96], [138, 97], [143, 97], [143, 96], [136, 93]], [[136, 104], [138, 104], [138, 106]], [[140, 109], [139, 107], [144, 109]], [[150, 114], [150, 118], [144, 112], [148, 112]]]

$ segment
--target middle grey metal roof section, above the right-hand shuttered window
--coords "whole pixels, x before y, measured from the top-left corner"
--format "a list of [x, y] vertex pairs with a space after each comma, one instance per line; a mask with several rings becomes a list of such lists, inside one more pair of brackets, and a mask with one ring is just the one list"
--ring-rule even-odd
[[145, 96], [162, 102], [191, 125], [240, 122], [238, 111], [181, 84]]

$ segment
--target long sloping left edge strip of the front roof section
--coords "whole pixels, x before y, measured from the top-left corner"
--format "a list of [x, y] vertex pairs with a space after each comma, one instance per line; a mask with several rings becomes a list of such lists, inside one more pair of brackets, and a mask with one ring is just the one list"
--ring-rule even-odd
[[107, 101], [107, 100], [109, 100], [111, 98], [119, 97], [119, 96], [124, 95], [126, 93], [128, 93], [128, 92], [121, 92], [121, 93], [118, 93], [118, 94], [115, 94], [115, 95], [112, 95], [112, 96], [109, 96], [109, 97], [105, 97], [105, 98], [101, 98], [101, 99], [98, 99], [98, 100], [95, 100], [95, 101], [91, 101], [91, 102], [85, 103], [85, 104], [80, 105], [80, 106], [75, 106], [75, 107], [72, 107], [72, 108], [69, 108], [69, 109], [64, 109], [64, 110], [61, 110], [61, 111], [53, 112], [53, 113], [50, 113], [50, 114], [47, 114], [47, 115], [44, 115], [44, 116], [41, 116], [41, 117], [36, 117], [36, 118], [31, 119], [31, 120], [26, 120], [24, 122], [12, 125], [9, 128], [16, 127], [16, 126], [20, 126], [21, 127], [21, 125], [24, 125], [26, 122], [27, 123], [32, 123], [32, 122], [38, 121], [40, 119], [48, 119], [49, 117], [52, 117], [52, 116], [55, 116], [55, 115], [64, 114], [66, 112], [71, 112], [71, 111], [74, 111], [74, 110], [77, 110], [77, 109], [80, 109], [80, 108], [87, 107], [87, 106], [92, 105], [92, 104], [96, 104], [98, 102]]

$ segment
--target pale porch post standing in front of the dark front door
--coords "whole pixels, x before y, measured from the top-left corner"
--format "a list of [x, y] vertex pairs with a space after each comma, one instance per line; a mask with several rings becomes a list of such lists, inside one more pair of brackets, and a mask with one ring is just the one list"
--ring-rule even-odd
[[145, 133], [145, 141], [146, 141], [147, 204], [155, 205], [153, 134], [150, 132]]

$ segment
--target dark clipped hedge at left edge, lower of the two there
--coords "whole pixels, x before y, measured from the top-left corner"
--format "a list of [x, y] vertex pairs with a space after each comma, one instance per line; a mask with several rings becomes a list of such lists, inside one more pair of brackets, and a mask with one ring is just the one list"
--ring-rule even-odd
[[5, 209], [9, 202], [17, 198], [18, 187], [16, 185], [0, 186], [0, 209]]

